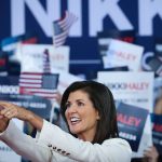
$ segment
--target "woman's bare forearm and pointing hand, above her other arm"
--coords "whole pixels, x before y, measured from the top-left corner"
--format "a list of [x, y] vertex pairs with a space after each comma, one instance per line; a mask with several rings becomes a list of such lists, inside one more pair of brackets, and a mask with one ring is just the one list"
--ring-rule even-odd
[[[29, 122], [33, 127], [36, 127], [38, 131], [41, 131], [43, 125], [43, 119], [33, 112], [19, 107], [17, 105], [8, 103], [8, 102], [0, 102], [0, 118], [17, 118], [19, 120]], [[6, 124], [6, 122], [5, 122]], [[6, 126], [6, 125], [5, 125]], [[1, 127], [2, 129], [2, 127]], [[5, 129], [5, 127], [3, 127]]]

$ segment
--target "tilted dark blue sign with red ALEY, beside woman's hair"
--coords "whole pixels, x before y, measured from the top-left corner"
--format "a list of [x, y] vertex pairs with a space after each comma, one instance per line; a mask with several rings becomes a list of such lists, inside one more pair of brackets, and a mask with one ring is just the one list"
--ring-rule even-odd
[[127, 104], [119, 104], [117, 120], [119, 136], [126, 139], [133, 151], [137, 152], [149, 111]]

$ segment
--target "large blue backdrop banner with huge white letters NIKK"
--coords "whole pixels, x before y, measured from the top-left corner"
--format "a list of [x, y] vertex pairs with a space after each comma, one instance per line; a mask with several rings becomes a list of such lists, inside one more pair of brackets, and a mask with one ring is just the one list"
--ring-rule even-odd
[[78, 16], [65, 43], [70, 45], [70, 72], [93, 77], [103, 69], [97, 33], [135, 30], [135, 43], [152, 52], [162, 37], [161, 6], [160, 0], [1, 0], [0, 41], [32, 31], [41, 43], [52, 43], [52, 22], [68, 10]]

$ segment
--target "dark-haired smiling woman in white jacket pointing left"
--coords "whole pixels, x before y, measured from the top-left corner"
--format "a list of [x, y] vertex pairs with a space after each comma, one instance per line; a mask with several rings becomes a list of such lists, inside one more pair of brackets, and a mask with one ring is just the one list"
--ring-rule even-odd
[[[127, 141], [118, 138], [111, 92], [95, 81], [72, 83], [63, 94], [60, 111], [69, 133], [13, 104], [0, 102], [0, 139], [35, 162], [130, 162]], [[36, 138], [16, 129], [12, 118], [29, 122]], [[9, 125], [8, 125], [9, 123]]]

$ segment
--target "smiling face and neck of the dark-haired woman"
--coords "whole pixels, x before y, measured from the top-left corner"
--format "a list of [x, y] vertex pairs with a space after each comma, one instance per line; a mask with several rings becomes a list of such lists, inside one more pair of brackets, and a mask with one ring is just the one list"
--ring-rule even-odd
[[69, 94], [65, 116], [72, 134], [92, 141], [96, 133], [98, 111], [93, 107], [89, 95], [78, 90]]

